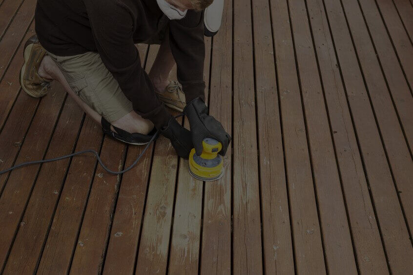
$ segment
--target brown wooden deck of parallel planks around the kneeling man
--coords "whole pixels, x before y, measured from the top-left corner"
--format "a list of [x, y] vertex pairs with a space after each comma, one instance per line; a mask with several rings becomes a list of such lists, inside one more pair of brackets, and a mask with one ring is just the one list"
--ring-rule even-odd
[[[0, 0], [0, 170], [89, 148], [121, 170], [142, 147], [58, 83], [21, 91], [35, 5]], [[412, 274], [412, 39], [412, 0], [226, 0], [205, 63], [225, 177], [163, 137], [119, 177], [90, 155], [2, 175], [0, 273]]]

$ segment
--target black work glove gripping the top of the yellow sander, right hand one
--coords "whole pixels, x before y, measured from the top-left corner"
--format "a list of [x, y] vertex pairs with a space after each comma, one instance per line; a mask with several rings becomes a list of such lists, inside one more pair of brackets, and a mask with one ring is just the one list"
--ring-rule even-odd
[[198, 156], [202, 154], [202, 141], [204, 138], [210, 137], [221, 142], [222, 150], [219, 154], [225, 156], [229, 142], [231, 142], [231, 136], [224, 130], [218, 120], [208, 116], [208, 107], [206, 107], [204, 101], [201, 98], [193, 99], [186, 104], [184, 114], [189, 120], [192, 143], [196, 154]]

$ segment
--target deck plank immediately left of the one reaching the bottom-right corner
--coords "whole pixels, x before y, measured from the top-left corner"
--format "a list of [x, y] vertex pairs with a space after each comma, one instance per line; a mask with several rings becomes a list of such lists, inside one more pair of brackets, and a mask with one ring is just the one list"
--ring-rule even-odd
[[358, 269], [362, 274], [386, 274], [388, 273], [386, 257], [323, 3], [307, 0], [307, 8], [333, 130]]

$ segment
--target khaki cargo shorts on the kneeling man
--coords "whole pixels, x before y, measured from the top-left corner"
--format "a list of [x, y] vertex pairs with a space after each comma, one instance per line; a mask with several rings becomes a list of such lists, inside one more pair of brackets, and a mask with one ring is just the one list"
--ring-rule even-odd
[[47, 54], [56, 62], [70, 88], [107, 121], [118, 120], [133, 110], [132, 102], [126, 98], [98, 53], [70, 57]]

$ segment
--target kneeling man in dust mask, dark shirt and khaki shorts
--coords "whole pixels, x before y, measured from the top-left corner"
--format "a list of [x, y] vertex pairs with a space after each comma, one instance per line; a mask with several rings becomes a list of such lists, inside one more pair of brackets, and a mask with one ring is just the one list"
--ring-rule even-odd
[[[154, 127], [180, 157], [211, 137], [230, 136], [205, 105], [203, 10], [212, 0], [39, 0], [26, 42], [21, 86], [33, 97], [57, 80], [112, 137], [145, 144]], [[136, 43], [161, 44], [149, 74]], [[177, 64], [177, 82], [168, 82]], [[190, 130], [165, 109], [183, 112]], [[131, 134], [133, 133], [133, 134]]]

